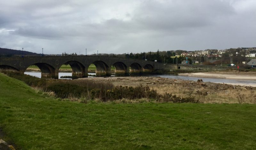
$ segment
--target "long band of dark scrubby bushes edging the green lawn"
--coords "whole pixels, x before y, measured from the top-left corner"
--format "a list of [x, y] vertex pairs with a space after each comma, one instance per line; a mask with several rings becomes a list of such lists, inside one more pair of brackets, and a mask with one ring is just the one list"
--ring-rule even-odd
[[120, 99], [155, 99], [159, 102], [173, 103], [198, 103], [195, 97], [177, 97], [169, 93], [160, 95], [156, 90], [150, 89], [148, 85], [142, 84], [136, 87], [116, 86], [111, 83], [94, 82], [91, 80], [47, 80], [40, 79], [34, 76], [25, 75], [18, 71], [0, 70], [0, 72], [21, 80], [30, 86], [39, 87], [44, 91], [54, 92], [58, 98], [81, 99], [83, 103], [87, 103], [92, 99], [97, 99], [103, 102], [115, 101]]

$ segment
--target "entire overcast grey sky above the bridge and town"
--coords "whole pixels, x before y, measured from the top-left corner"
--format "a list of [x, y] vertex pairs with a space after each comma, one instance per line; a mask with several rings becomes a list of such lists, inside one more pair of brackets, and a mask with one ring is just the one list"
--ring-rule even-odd
[[0, 0], [0, 47], [127, 53], [256, 47], [256, 0]]

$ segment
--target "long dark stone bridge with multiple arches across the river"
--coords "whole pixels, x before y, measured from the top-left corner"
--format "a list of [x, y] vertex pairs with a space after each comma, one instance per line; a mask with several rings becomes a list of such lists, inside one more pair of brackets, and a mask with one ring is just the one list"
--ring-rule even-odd
[[150, 73], [154, 69], [164, 69], [164, 63], [139, 59], [125, 59], [100, 56], [28, 56], [28, 57], [0, 57], [0, 68], [11, 68], [25, 72], [31, 65], [41, 70], [42, 78], [59, 77], [59, 68], [69, 64], [72, 76], [88, 77], [88, 67], [96, 66], [96, 76], [110, 76], [111, 66], [116, 67], [116, 75]]

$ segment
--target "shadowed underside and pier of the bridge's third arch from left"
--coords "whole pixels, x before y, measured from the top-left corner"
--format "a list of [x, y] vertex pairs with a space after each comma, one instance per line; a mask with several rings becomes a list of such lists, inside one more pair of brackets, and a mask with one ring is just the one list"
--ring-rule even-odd
[[[83, 78], [86, 77], [87, 74], [85, 73], [85, 67], [82, 63], [78, 62], [78, 61], [67, 61], [63, 64], [60, 65], [60, 67], [64, 64], [68, 64], [71, 69], [72, 69], [72, 77], [79, 77], [79, 78]], [[60, 69], [60, 67], [58, 68], [58, 70]]]

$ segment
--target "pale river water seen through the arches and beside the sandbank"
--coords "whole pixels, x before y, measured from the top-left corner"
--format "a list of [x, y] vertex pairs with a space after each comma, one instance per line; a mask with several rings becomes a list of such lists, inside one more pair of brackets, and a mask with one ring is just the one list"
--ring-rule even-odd
[[[25, 72], [24, 74], [41, 78], [41, 72]], [[95, 73], [88, 73], [88, 74], [95, 75]], [[72, 76], [72, 73], [59, 72], [59, 79], [61, 79], [60, 76]], [[199, 77], [189, 77], [189, 76], [179, 76], [179, 75], [145, 75], [145, 76], [155, 76], [155, 77], [182, 79], [182, 80], [191, 80], [191, 81], [197, 81], [198, 79], [202, 79], [203, 82], [225, 83], [225, 84], [232, 84], [232, 85], [244, 85], [244, 86], [256, 87], [255, 80], [214, 79], [214, 78], [199, 78]], [[92, 77], [92, 76], [88, 76], [88, 77]], [[67, 78], [62, 78], [62, 79], [67, 79]]]

